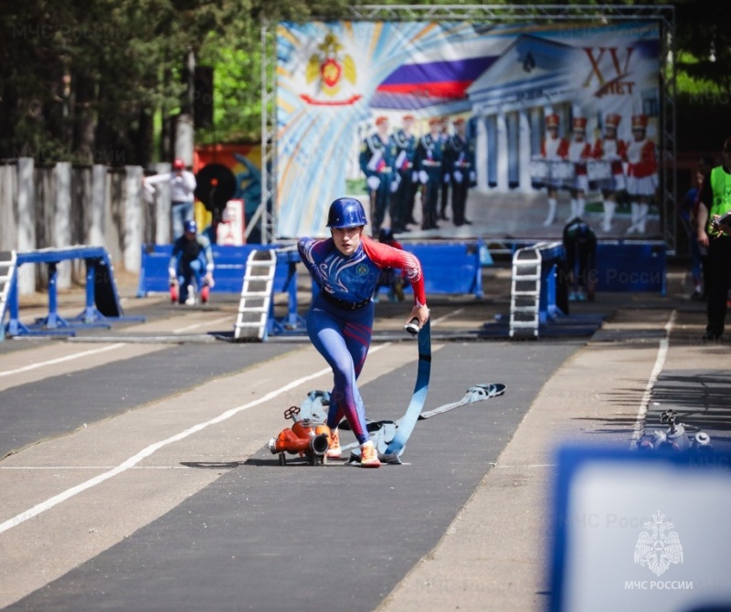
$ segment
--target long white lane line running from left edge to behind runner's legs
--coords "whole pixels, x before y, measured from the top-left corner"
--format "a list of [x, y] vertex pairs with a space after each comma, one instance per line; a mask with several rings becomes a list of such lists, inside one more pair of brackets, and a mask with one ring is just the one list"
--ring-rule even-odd
[[[369, 351], [369, 353], [376, 353], [377, 351], [380, 351], [383, 348], [386, 348], [390, 343], [380, 344], [373, 349]], [[155, 442], [154, 444], [151, 444], [147, 448], [143, 448], [140, 452], [138, 452], [136, 455], [133, 455], [130, 457], [130, 459], [127, 459], [126, 461], [123, 461], [120, 465], [118, 465], [116, 468], [113, 468], [109, 471], [105, 471], [103, 474], [100, 474], [99, 476], [96, 476], [90, 480], [87, 480], [86, 482], [82, 482], [81, 484], [77, 485], [76, 487], [71, 487], [67, 491], [63, 491], [62, 493], [58, 493], [58, 495], [55, 495], [54, 497], [51, 497], [50, 499], [46, 501], [41, 501], [40, 503], [33, 506], [33, 508], [26, 510], [26, 512], [21, 512], [20, 514], [17, 514], [12, 519], [8, 519], [5, 522], [0, 523], [0, 533], [4, 533], [8, 531], [9, 529], [12, 529], [13, 527], [17, 527], [17, 525], [21, 524], [22, 522], [26, 522], [28, 519], [32, 519], [34, 516], [37, 516], [41, 512], [46, 512], [47, 510], [50, 510], [54, 506], [58, 505], [62, 501], [67, 501], [70, 498], [72, 498], [74, 495], [78, 495], [79, 493], [86, 491], [87, 489], [90, 489], [91, 487], [94, 487], [98, 484], [101, 484], [101, 482], [104, 482], [104, 480], [109, 480], [113, 478], [114, 476], [117, 476], [118, 474], [122, 474], [122, 472], [126, 470], [130, 470], [133, 468], [137, 463], [142, 461], [143, 459], [149, 457], [152, 455], [155, 451], [159, 450], [160, 448], [163, 448], [164, 446], [167, 446], [168, 444], [172, 444], [173, 442], [179, 442], [180, 440], [187, 438], [188, 436], [191, 436], [192, 434], [197, 433], [201, 429], [205, 429], [206, 427], [210, 425], [216, 425], [217, 423], [220, 423], [222, 421], [225, 421], [226, 419], [230, 417], [234, 417], [235, 415], [238, 415], [239, 412], [242, 412], [243, 410], [248, 410], [249, 408], [253, 406], [259, 406], [260, 404], [264, 404], [266, 402], [269, 402], [271, 399], [274, 399], [276, 396], [281, 396], [281, 394], [286, 393], [287, 391], [290, 391], [291, 389], [294, 389], [295, 387], [302, 385], [303, 383], [306, 383], [309, 380], [313, 380], [314, 378], [319, 378], [320, 376], [326, 375], [329, 372], [332, 372], [332, 370], [329, 367], [323, 368], [322, 370], [319, 370], [315, 372], [314, 374], [302, 376], [302, 378], [298, 378], [295, 381], [292, 381], [291, 383], [281, 386], [279, 389], [274, 389], [273, 391], [270, 391], [267, 395], [260, 397], [259, 399], [255, 399], [253, 402], [249, 402], [249, 404], [244, 404], [242, 406], [238, 406], [236, 408], [231, 408], [230, 410], [227, 410], [221, 415], [218, 415], [215, 418], [210, 419], [209, 421], [206, 421], [204, 423], [198, 423], [197, 425], [194, 425], [193, 427], [189, 427], [188, 429], [185, 429], [185, 431], [181, 431], [179, 434], [175, 434], [175, 436], [172, 436], [171, 438], [167, 438], [164, 440], [161, 440], [160, 442]]]

